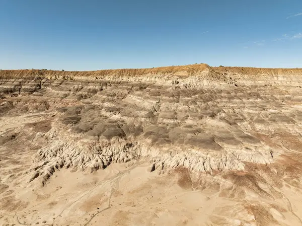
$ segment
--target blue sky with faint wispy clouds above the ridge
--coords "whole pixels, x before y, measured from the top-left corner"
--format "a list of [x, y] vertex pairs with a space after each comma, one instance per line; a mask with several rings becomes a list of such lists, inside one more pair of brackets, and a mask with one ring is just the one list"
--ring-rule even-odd
[[302, 67], [302, 0], [0, 0], [0, 68]]

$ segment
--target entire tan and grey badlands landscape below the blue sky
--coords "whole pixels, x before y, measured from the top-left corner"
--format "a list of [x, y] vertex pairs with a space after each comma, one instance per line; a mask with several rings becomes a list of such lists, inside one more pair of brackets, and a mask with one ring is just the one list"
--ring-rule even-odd
[[302, 69], [0, 71], [0, 225], [302, 225]]

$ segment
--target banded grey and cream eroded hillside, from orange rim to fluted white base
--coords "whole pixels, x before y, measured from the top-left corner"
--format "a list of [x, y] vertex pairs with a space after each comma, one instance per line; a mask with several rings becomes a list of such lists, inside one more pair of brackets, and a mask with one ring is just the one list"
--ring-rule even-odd
[[[151, 169], [243, 170], [282, 154], [254, 133], [299, 135], [302, 69], [206, 64], [100, 71], [2, 70], [1, 113], [53, 112], [38, 175], [146, 158]], [[30, 131], [30, 129], [28, 129]]]

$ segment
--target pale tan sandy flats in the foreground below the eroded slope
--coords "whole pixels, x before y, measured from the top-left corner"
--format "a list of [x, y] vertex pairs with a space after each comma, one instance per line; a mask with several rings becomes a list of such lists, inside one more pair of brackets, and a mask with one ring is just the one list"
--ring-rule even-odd
[[[29, 116], [2, 118], [6, 127], [2, 134], [35, 120], [43, 121], [48, 114]], [[141, 159], [113, 163], [92, 173], [63, 168], [41, 186], [38, 180], [29, 183], [27, 170], [35, 151], [28, 140], [9, 141], [6, 153], [4, 147], [1, 149], [1, 225], [301, 224], [301, 192], [299, 182], [292, 178], [288, 178], [289, 183], [282, 181], [281, 188], [273, 188], [281, 194], [279, 200], [261, 199], [241, 179], [246, 195], [238, 196], [242, 188], [237, 188], [228, 197], [221, 189], [228, 182], [221, 181], [219, 175], [198, 175], [185, 168], [164, 174], [150, 172], [150, 164]]]

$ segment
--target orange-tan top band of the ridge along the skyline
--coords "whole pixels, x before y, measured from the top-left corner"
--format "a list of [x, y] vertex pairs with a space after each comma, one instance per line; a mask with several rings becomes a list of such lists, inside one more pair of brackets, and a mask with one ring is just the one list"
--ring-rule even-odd
[[219, 66], [211, 67], [207, 64], [190, 64], [183, 66], [165, 66], [140, 69], [104, 69], [95, 71], [62, 71], [46, 69], [19, 69], [19, 70], [1, 70], [0, 78], [28, 78], [34, 76], [142, 76], [146, 74], [177, 74], [180, 76], [192, 76], [203, 71], [221, 73], [237, 73], [246, 76], [259, 75], [296, 75], [302, 73], [302, 68], [257, 68], [257, 67], [229, 67]]

